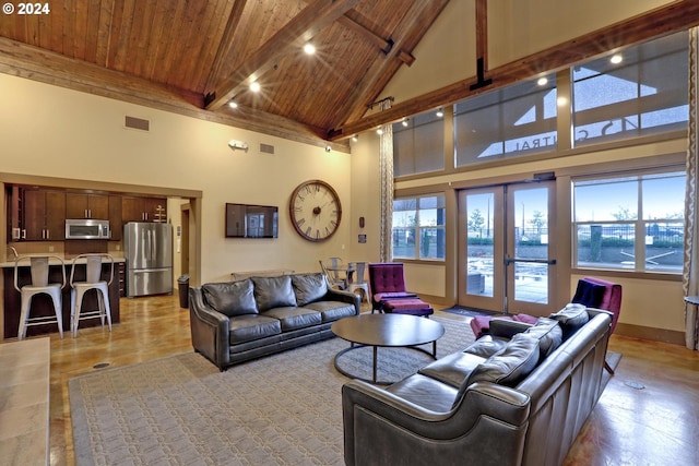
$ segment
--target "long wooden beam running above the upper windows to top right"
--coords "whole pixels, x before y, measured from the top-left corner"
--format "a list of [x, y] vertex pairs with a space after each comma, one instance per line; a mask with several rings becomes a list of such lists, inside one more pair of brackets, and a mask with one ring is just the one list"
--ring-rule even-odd
[[341, 141], [381, 124], [399, 121], [402, 118], [439, 106], [451, 105], [466, 97], [531, 79], [540, 73], [571, 67], [574, 63], [606, 53], [615, 48], [686, 31], [696, 25], [699, 25], [699, 1], [676, 1], [489, 70], [488, 74], [493, 79], [493, 84], [485, 88], [471, 89], [471, 84], [476, 81], [476, 76], [470, 76], [411, 100], [398, 103], [380, 113], [372, 113], [356, 121], [346, 120], [352, 122], [332, 130], [328, 139]]

